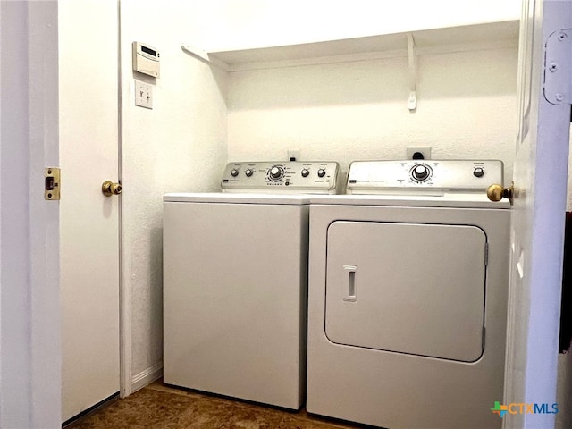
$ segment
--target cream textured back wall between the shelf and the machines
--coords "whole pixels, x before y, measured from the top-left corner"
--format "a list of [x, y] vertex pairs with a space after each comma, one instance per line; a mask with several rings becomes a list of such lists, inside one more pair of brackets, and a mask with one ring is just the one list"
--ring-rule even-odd
[[512, 175], [517, 48], [418, 59], [417, 111], [407, 108], [407, 58], [231, 73], [231, 160], [404, 158], [430, 146], [434, 159], [492, 158]]

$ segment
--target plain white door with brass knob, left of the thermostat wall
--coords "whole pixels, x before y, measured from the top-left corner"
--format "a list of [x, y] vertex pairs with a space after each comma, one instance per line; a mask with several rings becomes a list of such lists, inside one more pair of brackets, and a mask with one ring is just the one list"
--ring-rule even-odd
[[119, 391], [117, 3], [59, 3], [63, 421]]

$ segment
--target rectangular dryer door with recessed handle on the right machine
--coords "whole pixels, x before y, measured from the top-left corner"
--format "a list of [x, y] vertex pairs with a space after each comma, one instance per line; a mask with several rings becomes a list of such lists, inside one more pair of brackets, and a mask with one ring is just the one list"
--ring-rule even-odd
[[327, 338], [474, 362], [483, 354], [485, 247], [472, 225], [332, 223]]

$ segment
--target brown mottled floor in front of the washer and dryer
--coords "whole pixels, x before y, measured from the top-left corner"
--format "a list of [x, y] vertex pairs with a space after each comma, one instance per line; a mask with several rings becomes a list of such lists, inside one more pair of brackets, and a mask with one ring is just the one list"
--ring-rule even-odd
[[347, 422], [230, 400], [196, 391], [148, 385], [128, 398], [114, 400], [81, 417], [66, 429], [351, 429]]

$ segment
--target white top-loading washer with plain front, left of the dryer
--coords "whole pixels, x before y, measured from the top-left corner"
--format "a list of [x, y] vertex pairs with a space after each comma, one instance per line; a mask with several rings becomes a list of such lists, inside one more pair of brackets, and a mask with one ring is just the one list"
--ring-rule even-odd
[[232, 163], [232, 193], [164, 196], [164, 383], [300, 408], [308, 193], [336, 192], [338, 171]]

